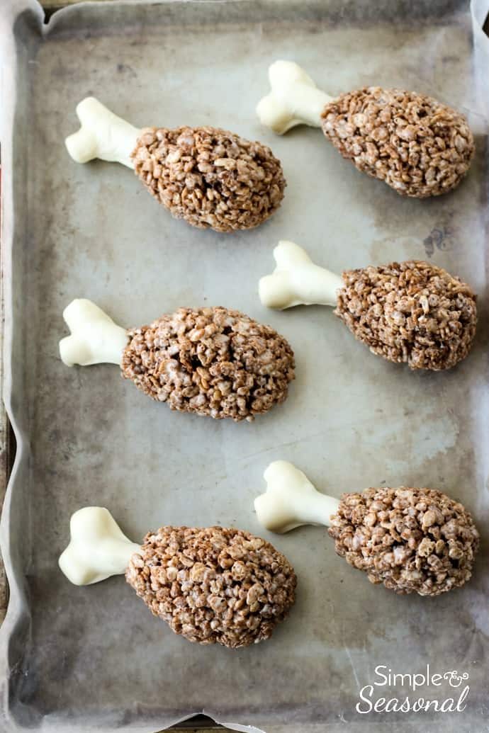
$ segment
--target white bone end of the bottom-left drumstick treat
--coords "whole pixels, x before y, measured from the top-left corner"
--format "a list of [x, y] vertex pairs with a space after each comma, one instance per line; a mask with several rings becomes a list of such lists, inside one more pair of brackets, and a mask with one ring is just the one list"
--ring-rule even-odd
[[109, 509], [84, 507], [70, 519], [70, 544], [59, 557], [59, 567], [76, 586], [88, 586], [122, 575], [140, 545], [130, 542]]

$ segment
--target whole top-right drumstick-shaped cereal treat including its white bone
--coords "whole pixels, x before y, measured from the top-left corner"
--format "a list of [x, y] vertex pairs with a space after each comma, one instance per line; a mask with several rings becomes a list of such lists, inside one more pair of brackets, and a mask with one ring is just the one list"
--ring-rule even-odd
[[398, 194], [446, 194], [468, 171], [468, 122], [433, 97], [380, 86], [329, 97], [290, 61], [276, 61], [268, 75], [271, 92], [257, 106], [263, 125], [279, 135], [295, 125], [323, 128], [343, 158]]

